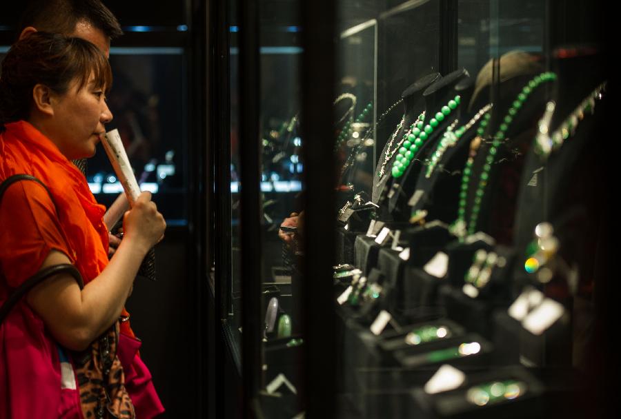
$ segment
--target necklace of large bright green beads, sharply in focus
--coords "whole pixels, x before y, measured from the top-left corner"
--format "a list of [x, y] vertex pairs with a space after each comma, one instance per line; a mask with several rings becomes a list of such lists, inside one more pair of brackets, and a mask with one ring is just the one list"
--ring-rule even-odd
[[451, 99], [447, 105], [442, 106], [440, 112], [435, 114], [435, 117], [429, 121], [427, 125], [424, 125], [423, 121], [419, 121], [412, 129], [412, 132], [408, 134], [406, 141], [399, 149], [399, 154], [393, 163], [392, 174], [394, 178], [400, 178], [410, 165], [414, 156], [420, 150], [422, 145], [427, 141], [429, 136], [433, 133], [435, 128], [440, 125], [442, 121], [449, 116], [453, 110], [457, 109], [460, 105], [461, 96], [455, 96], [455, 99]]

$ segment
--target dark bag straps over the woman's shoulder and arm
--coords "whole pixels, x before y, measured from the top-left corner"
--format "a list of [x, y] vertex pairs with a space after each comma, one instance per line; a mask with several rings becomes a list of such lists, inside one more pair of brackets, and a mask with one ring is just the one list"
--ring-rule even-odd
[[[30, 176], [30, 174], [14, 174], [13, 176], [6, 178], [6, 180], [0, 184], [0, 202], [2, 201], [2, 197], [4, 196], [6, 190], [8, 190], [8, 188], [13, 183], [19, 181], [34, 181], [39, 183], [39, 185], [43, 186], [48, 192], [48, 195], [50, 195], [50, 199], [52, 200], [52, 203], [54, 204], [54, 207], [58, 212], [58, 207], [48, 187], [45, 185], [45, 183], [39, 181], [39, 179], [35, 178], [34, 176]], [[23, 296], [28, 294], [30, 289], [32, 289], [36, 285], [39, 285], [41, 282], [43, 282], [43, 280], [50, 278], [50, 276], [55, 276], [63, 273], [73, 276], [73, 278], [75, 278], [76, 282], [78, 283], [80, 289], [84, 287], [82, 276], [74, 265], [63, 263], [61, 265], [55, 265], [46, 267], [45, 269], [41, 269], [39, 272], [32, 275], [21, 285], [19, 285], [19, 287], [14, 290], [13, 294], [11, 294], [9, 298], [4, 302], [4, 304], [0, 307], [0, 325], [2, 324], [4, 318], [6, 318], [6, 316], [8, 315], [9, 311], [13, 308], [13, 306], [16, 305], [17, 302], [21, 300], [21, 298], [23, 298]]]

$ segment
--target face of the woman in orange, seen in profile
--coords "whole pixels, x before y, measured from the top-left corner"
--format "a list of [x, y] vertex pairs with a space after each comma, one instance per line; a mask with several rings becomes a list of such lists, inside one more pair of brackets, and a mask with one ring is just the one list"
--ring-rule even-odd
[[68, 92], [52, 99], [54, 115], [48, 132], [67, 159], [94, 156], [99, 137], [106, 133], [104, 124], [112, 121], [105, 90], [93, 81], [80, 90], [78, 84], [72, 81]]

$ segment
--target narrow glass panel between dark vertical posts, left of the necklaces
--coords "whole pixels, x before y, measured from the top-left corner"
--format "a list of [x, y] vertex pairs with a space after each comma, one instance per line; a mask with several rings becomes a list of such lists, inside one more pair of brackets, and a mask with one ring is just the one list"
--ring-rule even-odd
[[[299, 132], [302, 48], [297, 1], [259, 2], [260, 129], [262, 153], [262, 336], [261, 406], [266, 418], [302, 411], [301, 298], [295, 228], [304, 214], [304, 139]], [[284, 228], [293, 231], [284, 231]], [[276, 396], [278, 394], [279, 396]]]

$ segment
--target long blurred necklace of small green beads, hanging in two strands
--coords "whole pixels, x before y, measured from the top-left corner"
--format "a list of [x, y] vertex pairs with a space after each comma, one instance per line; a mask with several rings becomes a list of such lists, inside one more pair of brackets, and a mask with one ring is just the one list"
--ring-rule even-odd
[[556, 74], [554, 74], [553, 72], [544, 72], [542, 74], [539, 74], [538, 76], [535, 76], [531, 81], [529, 81], [528, 84], [524, 86], [524, 88], [522, 88], [522, 91], [517, 94], [517, 97], [515, 98], [515, 101], [513, 101], [511, 108], [509, 108], [506, 115], [504, 116], [504, 119], [500, 124], [499, 130], [493, 137], [491, 147], [489, 147], [489, 150], [487, 150], [487, 156], [485, 158], [483, 170], [481, 172], [481, 175], [479, 176], [479, 183], [477, 184], [477, 190], [475, 192], [474, 204], [470, 214], [470, 221], [466, 225], [466, 198], [469, 189], [470, 177], [472, 174], [474, 156], [477, 152], [478, 147], [481, 144], [481, 135], [482, 133], [484, 133], [485, 127], [489, 123], [489, 116], [486, 116], [486, 118], [481, 121], [481, 126], [479, 127], [479, 130], [477, 130], [477, 134], [479, 135], [471, 143], [471, 156], [469, 156], [468, 161], [466, 161], [466, 167], [464, 167], [464, 173], [462, 175], [462, 188], [460, 192], [460, 203], [459, 208], [457, 209], [457, 220], [455, 221], [451, 229], [460, 238], [463, 238], [466, 235], [466, 232], [468, 234], [474, 234], [475, 232], [483, 195], [485, 193], [485, 187], [487, 186], [487, 181], [489, 180], [491, 165], [495, 160], [495, 156], [498, 152], [498, 147], [506, 139], [506, 132], [507, 130], [509, 130], [509, 125], [511, 125], [511, 122], [513, 122], [513, 119], [522, 108], [522, 105], [524, 105], [526, 100], [529, 99], [529, 96], [531, 95], [533, 90], [538, 88], [542, 83], [554, 81], [555, 79]]

